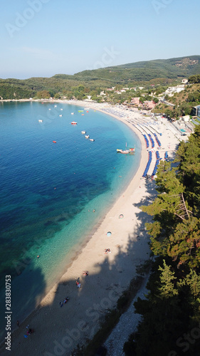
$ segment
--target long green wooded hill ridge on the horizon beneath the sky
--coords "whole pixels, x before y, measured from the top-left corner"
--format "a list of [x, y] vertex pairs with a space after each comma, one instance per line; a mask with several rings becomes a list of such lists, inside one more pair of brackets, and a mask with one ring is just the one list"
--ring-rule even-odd
[[42, 90], [47, 90], [51, 96], [56, 93], [70, 96], [80, 85], [89, 93], [115, 85], [166, 84], [199, 73], [200, 56], [187, 56], [83, 70], [74, 75], [56, 74], [51, 78], [0, 79], [0, 99], [33, 98]]

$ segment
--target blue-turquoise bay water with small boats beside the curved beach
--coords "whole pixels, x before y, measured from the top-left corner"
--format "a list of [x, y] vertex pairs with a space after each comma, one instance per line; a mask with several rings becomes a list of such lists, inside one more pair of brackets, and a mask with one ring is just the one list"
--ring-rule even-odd
[[[1, 330], [5, 276], [11, 275], [16, 326], [59, 280], [140, 163], [140, 140], [127, 125], [102, 112], [81, 115], [83, 108], [56, 105], [0, 105]], [[137, 154], [117, 154], [126, 142]]]

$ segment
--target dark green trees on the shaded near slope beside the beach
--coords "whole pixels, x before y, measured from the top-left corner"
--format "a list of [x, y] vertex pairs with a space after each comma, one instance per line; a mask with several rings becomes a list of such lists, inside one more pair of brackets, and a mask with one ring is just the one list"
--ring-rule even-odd
[[137, 333], [125, 343], [131, 356], [199, 356], [200, 350], [200, 128], [181, 142], [172, 168], [160, 162], [157, 198], [142, 206], [154, 253]]

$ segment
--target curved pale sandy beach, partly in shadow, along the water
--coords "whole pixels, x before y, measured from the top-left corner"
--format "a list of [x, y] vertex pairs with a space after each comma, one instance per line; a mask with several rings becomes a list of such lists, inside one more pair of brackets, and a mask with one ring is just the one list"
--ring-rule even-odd
[[[82, 345], [98, 331], [106, 310], [116, 305], [122, 290], [136, 275], [136, 266], [149, 258], [149, 236], [144, 224], [150, 218], [140, 210], [140, 206], [149, 204], [150, 199], [156, 196], [156, 190], [154, 180], [142, 178], [148, 152], [144, 137], [135, 125], [152, 119], [125, 108], [114, 109], [110, 105], [72, 103], [72, 100], [66, 100], [66, 103], [100, 110], [125, 122], [141, 140], [140, 167], [60, 281], [23, 323], [19, 320], [19, 328], [11, 335], [11, 351], [4, 345], [1, 355], [70, 355], [77, 344]], [[174, 157], [181, 136], [167, 120], [160, 120], [155, 127], [162, 133], [159, 136], [162, 144], [160, 157], [164, 159], [166, 151], [169, 159]], [[155, 143], [149, 174], [154, 168], [156, 150]], [[119, 218], [120, 214], [123, 214], [123, 219]], [[107, 236], [107, 231], [112, 232], [111, 236]], [[111, 252], [106, 254], [105, 248], [110, 248]], [[88, 271], [88, 276], [83, 276], [83, 271]], [[75, 283], [78, 278], [80, 288]], [[68, 302], [60, 308], [60, 301], [67, 296]], [[26, 325], [35, 330], [28, 337], [24, 337]]]

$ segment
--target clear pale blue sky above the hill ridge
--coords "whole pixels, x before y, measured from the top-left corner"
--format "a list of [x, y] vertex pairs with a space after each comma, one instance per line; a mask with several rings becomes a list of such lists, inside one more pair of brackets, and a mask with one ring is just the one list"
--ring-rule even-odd
[[9, 0], [0, 78], [198, 55], [199, 0]]

